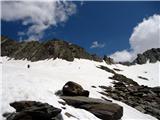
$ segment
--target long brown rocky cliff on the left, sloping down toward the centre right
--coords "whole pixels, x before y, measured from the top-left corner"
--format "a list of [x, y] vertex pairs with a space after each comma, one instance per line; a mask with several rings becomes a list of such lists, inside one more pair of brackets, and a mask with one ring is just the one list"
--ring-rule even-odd
[[1, 56], [14, 59], [38, 61], [44, 59], [61, 58], [73, 61], [74, 58], [83, 58], [102, 62], [102, 58], [91, 55], [84, 48], [63, 40], [53, 39], [46, 42], [29, 41], [17, 42], [7, 37], [1, 37]]

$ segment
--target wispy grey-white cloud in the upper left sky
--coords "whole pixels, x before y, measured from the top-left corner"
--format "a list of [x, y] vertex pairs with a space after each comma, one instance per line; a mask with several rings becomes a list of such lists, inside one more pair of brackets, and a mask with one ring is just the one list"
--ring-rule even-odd
[[1, 20], [21, 20], [29, 26], [29, 39], [41, 39], [46, 29], [66, 22], [76, 12], [76, 5], [66, 1], [3, 1], [1, 8]]

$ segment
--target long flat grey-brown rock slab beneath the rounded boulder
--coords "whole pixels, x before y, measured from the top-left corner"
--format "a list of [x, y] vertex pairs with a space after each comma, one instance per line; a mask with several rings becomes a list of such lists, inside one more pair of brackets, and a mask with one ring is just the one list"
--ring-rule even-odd
[[119, 120], [123, 116], [123, 107], [101, 99], [83, 96], [61, 96], [68, 105], [85, 109], [102, 120]]

